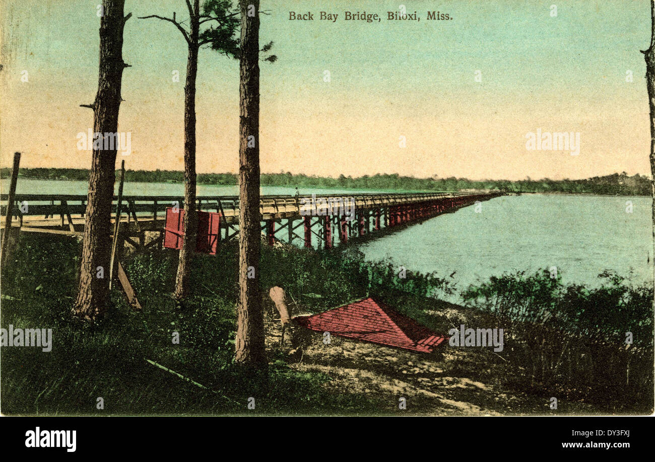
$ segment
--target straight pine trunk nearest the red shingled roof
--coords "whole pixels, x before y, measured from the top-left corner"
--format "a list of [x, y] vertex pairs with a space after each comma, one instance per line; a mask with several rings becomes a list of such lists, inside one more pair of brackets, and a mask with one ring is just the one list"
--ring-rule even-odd
[[[252, 16], [248, 16], [250, 13]], [[259, 0], [241, 0], [239, 122], [239, 302], [236, 361], [267, 368], [259, 293]], [[248, 277], [254, 274], [255, 277]]]

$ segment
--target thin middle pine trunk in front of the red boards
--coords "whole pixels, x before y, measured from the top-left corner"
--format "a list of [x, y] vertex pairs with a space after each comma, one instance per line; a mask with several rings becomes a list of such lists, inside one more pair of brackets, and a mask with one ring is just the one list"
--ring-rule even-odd
[[183, 300], [189, 294], [191, 260], [196, 249], [198, 213], [196, 211], [196, 75], [198, 74], [198, 4], [191, 18], [191, 44], [187, 58], [187, 80], [184, 86], [184, 230], [179, 250], [178, 274], [174, 298]]

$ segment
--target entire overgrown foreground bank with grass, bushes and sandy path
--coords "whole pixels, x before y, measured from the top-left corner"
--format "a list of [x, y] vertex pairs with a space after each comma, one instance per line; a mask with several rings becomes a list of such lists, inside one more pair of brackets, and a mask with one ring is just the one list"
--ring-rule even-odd
[[[594, 289], [548, 272], [504, 274], [468, 287], [464, 303], [437, 274], [400, 278], [355, 247], [262, 246], [269, 383], [233, 362], [238, 249], [196, 255], [193, 297], [170, 298], [178, 253], [148, 249], [124, 262], [142, 311], [119, 290], [96, 325], [71, 317], [81, 247], [23, 233], [2, 269], [3, 329], [52, 329], [51, 350], [1, 347], [2, 412], [125, 414], [649, 414], [653, 408], [652, 285], [607, 272]], [[293, 314], [367, 294], [449, 336], [503, 329], [504, 346], [453, 346], [420, 355], [306, 332], [300, 354], [280, 345], [268, 290], [286, 289]], [[177, 341], [176, 341], [177, 340]], [[553, 398], [556, 406], [553, 407]], [[400, 404], [399, 404], [400, 402]], [[403, 404], [404, 403], [404, 404]]]

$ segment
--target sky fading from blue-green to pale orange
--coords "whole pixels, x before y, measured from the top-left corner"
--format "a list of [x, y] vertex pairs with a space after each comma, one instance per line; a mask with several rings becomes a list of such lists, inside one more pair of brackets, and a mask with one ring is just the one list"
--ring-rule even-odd
[[[649, 175], [648, 0], [261, 2], [261, 171], [470, 179]], [[0, 165], [90, 168], [100, 0], [0, 0]], [[552, 5], [557, 16], [552, 16]], [[439, 10], [451, 20], [428, 20]], [[119, 131], [128, 169], [183, 169], [184, 0], [127, 0]], [[290, 20], [290, 11], [314, 20]], [[320, 11], [338, 14], [319, 20]], [[377, 13], [380, 22], [344, 20]], [[173, 73], [179, 72], [179, 82]], [[329, 81], [326, 82], [326, 71]], [[632, 75], [632, 79], [627, 78]], [[27, 77], [27, 79], [26, 79]], [[476, 79], [477, 77], [477, 79]], [[27, 81], [24, 81], [27, 80]], [[631, 80], [631, 81], [627, 81]], [[238, 62], [201, 50], [197, 171], [238, 170]], [[580, 133], [579, 154], [527, 133]], [[404, 139], [404, 147], [401, 140]]]

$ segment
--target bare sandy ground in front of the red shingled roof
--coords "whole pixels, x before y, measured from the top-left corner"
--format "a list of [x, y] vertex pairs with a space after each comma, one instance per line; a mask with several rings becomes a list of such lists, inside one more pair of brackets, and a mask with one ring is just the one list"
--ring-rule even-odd
[[[279, 315], [266, 320], [267, 347], [280, 347]], [[445, 333], [445, 332], [444, 332]], [[432, 416], [499, 416], [587, 414], [582, 403], [558, 403], [550, 409], [550, 396], [523, 393], [503, 387], [511, 370], [491, 349], [449, 346], [443, 342], [433, 353], [411, 351], [331, 336], [294, 327], [301, 347], [294, 351], [288, 333], [282, 351], [292, 368], [322, 372], [331, 378], [328, 393], [362, 394], [381, 402], [381, 414]], [[504, 389], [505, 388], [505, 389]], [[404, 398], [406, 410], [399, 408]]]

